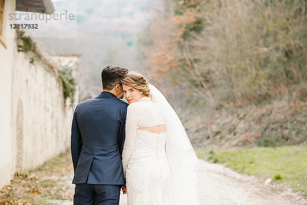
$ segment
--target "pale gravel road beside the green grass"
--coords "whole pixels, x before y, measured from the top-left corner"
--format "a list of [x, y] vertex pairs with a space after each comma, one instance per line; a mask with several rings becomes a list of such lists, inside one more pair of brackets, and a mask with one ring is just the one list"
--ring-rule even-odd
[[[200, 160], [196, 174], [201, 205], [307, 205], [299, 193], [277, 183], [242, 175], [219, 164]], [[120, 205], [126, 205], [121, 194]]]

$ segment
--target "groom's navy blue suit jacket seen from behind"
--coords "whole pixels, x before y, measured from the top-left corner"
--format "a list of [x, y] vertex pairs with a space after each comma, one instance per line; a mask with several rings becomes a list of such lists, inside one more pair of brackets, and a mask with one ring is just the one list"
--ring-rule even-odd
[[125, 184], [121, 154], [127, 106], [109, 92], [76, 106], [71, 135], [73, 184]]

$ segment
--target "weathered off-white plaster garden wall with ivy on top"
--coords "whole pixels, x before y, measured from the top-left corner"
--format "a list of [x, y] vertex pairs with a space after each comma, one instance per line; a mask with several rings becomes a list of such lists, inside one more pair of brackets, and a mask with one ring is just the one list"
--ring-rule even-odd
[[[12, 66], [11, 136], [13, 170], [27, 173], [70, 146], [73, 107], [64, 103], [62, 84], [33, 53], [17, 52]], [[78, 94], [76, 94], [77, 96]], [[77, 102], [77, 100], [75, 100]]]

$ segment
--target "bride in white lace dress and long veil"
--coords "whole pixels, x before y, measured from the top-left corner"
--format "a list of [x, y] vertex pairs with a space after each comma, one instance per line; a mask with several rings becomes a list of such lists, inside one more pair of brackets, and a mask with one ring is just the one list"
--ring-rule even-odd
[[199, 205], [197, 157], [165, 97], [137, 72], [122, 79], [127, 108], [122, 163], [128, 205]]

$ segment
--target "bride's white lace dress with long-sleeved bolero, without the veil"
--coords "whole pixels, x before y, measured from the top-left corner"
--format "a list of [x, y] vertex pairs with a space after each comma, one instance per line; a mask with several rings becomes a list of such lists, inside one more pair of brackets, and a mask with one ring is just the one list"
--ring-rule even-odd
[[166, 133], [138, 129], [165, 124], [160, 107], [141, 98], [127, 109], [123, 169], [128, 205], [170, 205], [171, 179], [165, 153]]

